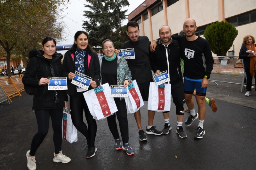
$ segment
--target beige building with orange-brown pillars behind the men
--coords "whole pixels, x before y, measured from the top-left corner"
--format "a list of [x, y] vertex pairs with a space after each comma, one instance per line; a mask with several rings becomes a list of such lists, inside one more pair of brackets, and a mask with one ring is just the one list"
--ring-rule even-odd
[[140, 35], [148, 36], [151, 42], [159, 38], [162, 25], [168, 25], [172, 34], [178, 34], [188, 18], [196, 21], [195, 34], [203, 38], [207, 25], [231, 22], [238, 30], [233, 43], [235, 55], [239, 54], [245, 35], [256, 38], [256, 0], [146, 0], [128, 15], [128, 21], [138, 22]]

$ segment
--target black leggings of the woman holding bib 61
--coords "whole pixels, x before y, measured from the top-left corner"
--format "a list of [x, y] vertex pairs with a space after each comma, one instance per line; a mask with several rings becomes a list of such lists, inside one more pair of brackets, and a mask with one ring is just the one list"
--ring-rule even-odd
[[53, 143], [55, 147], [55, 153], [58, 154], [61, 151], [62, 144], [62, 117], [63, 108], [61, 109], [48, 109], [48, 110], [35, 110], [36, 121], [38, 125], [38, 132], [34, 136], [29, 154], [35, 156], [37, 148], [43, 142], [45, 136], [49, 129], [49, 119], [52, 119], [52, 129], [53, 129]]

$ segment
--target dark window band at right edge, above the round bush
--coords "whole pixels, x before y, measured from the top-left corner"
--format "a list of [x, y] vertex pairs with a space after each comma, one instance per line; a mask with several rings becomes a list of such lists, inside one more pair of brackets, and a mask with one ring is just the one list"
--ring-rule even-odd
[[233, 26], [240, 26], [256, 22], [256, 10], [228, 18], [227, 22], [230, 22]]

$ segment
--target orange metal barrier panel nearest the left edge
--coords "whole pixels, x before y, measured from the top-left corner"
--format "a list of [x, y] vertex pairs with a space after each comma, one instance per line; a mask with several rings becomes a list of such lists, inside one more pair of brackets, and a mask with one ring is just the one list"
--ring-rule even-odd
[[12, 79], [10, 78], [0, 79], [0, 85], [2, 86], [4, 93], [6, 94], [10, 102], [12, 102], [11, 100], [12, 97], [21, 96], [19, 90], [15, 86]]

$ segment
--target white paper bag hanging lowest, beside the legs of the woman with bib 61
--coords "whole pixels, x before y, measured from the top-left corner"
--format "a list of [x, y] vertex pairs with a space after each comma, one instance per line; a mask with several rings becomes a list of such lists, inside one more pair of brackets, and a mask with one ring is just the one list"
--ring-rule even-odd
[[74, 126], [68, 109], [64, 109], [62, 117], [62, 138], [69, 143], [77, 141], [77, 130]]

